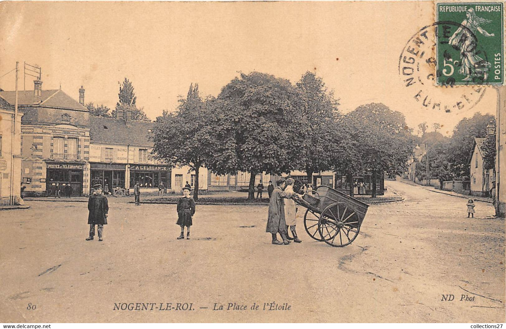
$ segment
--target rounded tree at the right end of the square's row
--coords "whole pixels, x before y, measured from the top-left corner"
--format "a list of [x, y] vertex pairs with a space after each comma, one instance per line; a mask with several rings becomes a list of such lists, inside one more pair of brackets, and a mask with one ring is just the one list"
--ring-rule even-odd
[[376, 197], [378, 175], [395, 177], [405, 171], [413, 152], [413, 136], [404, 116], [382, 103], [361, 105], [348, 116], [359, 124], [354, 127], [360, 145], [359, 156], [363, 171], [372, 174], [371, 196]]

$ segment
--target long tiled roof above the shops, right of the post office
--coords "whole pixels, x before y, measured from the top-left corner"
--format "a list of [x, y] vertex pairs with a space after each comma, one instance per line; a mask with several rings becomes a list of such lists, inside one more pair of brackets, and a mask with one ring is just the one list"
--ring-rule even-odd
[[154, 122], [131, 120], [126, 126], [124, 119], [112, 119], [90, 116], [90, 139], [92, 143], [153, 146], [149, 140], [148, 129]]

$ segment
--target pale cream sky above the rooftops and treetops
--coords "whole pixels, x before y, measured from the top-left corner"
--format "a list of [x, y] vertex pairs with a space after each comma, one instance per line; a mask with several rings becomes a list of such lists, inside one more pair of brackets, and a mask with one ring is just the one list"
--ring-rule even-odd
[[[0, 75], [19, 61], [22, 90], [23, 62], [37, 64], [43, 89], [61, 83], [78, 99], [83, 85], [86, 102], [111, 109], [118, 81], [128, 77], [138, 106], [155, 119], [177, 106], [190, 83], [216, 96], [238, 71], [295, 83], [310, 70], [341, 98], [345, 113], [383, 102], [412, 128], [438, 122], [451, 134], [464, 117], [495, 114], [496, 93], [490, 88], [474, 108], [447, 114], [424, 109], [407, 92], [400, 53], [433, 17], [433, 2], [3, 2]], [[26, 81], [32, 90], [33, 78]], [[0, 78], [4, 90], [14, 83], [14, 72]]]

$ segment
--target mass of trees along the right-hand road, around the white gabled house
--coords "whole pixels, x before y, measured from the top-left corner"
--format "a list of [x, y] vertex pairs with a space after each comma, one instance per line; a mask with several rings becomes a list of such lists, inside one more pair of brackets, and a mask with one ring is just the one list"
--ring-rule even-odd
[[[471, 118], [464, 118], [455, 126], [452, 136], [444, 137], [434, 129], [428, 132], [418, 127], [423, 135], [417, 141], [425, 145], [427, 154], [416, 164], [416, 173], [419, 180], [427, 177], [427, 162], [429, 164], [429, 177], [437, 178], [441, 184], [450, 180], [468, 180], [470, 177], [470, 158], [473, 151], [475, 137], [485, 137], [482, 150], [484, 152], [484, 168], [495, 167], [495, 134], [487, 134], [487, 125], [495, 125], [493, 115], [476, 113]], [[436, 127], [435, 127], [436, 128]], [[427, 158], [428, 157], [428, 158]]]

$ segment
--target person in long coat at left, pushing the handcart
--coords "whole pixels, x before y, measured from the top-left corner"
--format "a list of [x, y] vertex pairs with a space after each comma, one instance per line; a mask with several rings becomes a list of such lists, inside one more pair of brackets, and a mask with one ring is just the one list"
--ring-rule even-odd
[[[286, 237], [286, 221], [284, 216], [284, 200], [287, 198], [283, 191], [285, 179], [280, 178], [276, 181], [276, 188], [272, 191], [272, 197], [269, 203], [269, 217], [267, 218], [266, 232], [272, 234], [272, 244], [289, 244]], [[277, 239], [277, 233], [283, 239], [283, 242]]]

